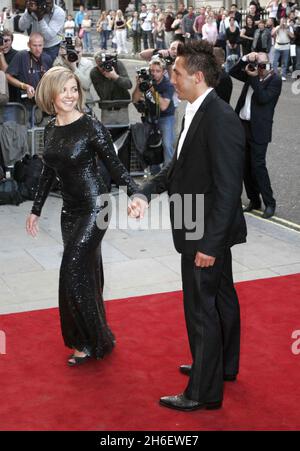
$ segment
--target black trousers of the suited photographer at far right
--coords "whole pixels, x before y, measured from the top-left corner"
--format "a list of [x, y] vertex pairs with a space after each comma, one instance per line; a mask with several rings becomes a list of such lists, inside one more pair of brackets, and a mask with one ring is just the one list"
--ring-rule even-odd
[[246, 133], [246, 158], [244, 184], [248, 199], [254, 204], [260, 204], [261, 194], [265, 206], [275, 207], [271, 181], [266, 166], [268, 143], [255, 142], [249, 121], [242, 121]]

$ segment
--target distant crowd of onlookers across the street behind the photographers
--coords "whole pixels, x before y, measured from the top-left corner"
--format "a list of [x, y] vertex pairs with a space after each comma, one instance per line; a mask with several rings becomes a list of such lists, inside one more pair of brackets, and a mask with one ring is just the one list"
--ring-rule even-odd
[[[51, 0], [48, 2], [52, 3]], [[94, 52], [92, 37], [95, 34], [97, 48], [108, 50], [110, 43], [118, 54], [138, 54], [147, 48], [167, 49], [174, 40], [204, 39], [224, 49], [228, 71], [241, 55], [263, 50], [269, 54], [271, 64], [274, 62], [275, 70], [282, 60], [284, 80], [287, 56], [291, 57], [293, 70], [300, 67], [299, 11], [297, 1], [269, 0], [262, 8], [259, 1], [252, 0], [246, 14], [242, 14], [236, 4], [218, 10], [209, 5], [196, 10], [180, 4], [177, 11], [172, 6], [162, 10], [155, 4], [141, 4], [140, 10], [136, 11], [131, 1], [124, 13], [120, 9], [101, 11], [97, 17], [83, 5], [73, 16], [66, 15], [55, 5], [57, 28], [53, 28], [52, 23], [51, 29], [58, 31], [60, 28], [65, 36], [79, 36], [83, 40], [83, 50], [90, 53]], [[31, 25], [32, 31], [40, 31], [28, 9], [21, 15], [18, 11], [11, 14], [6, 9], [0, 17], [1, 23], [10, 31], [24, 31]], [[58, 44], [57, 36], [50, 42], [49, 36], [44, 38], [46, 49]], [[129, 45], [130, 40], [132, 45]]]

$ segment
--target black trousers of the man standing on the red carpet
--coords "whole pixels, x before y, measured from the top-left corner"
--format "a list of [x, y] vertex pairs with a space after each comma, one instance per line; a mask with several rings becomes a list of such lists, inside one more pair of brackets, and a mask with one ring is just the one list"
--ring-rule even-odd
[[191, 255], [182, 255], [181, 263], [193, 359], [185, 394], [199, 402], [221, 401], [224, 374], [239, 371], [240, 308], [233, 285], [231, 251], [228, 248], [210, 268], [197, 268]]

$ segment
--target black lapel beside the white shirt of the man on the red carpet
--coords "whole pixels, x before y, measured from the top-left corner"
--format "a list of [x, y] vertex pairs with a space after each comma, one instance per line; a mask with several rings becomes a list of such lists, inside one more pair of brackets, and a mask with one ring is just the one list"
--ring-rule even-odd
[[189, 149], [191, 147], [194, 135], [196, 133], [196, 131], [198, 130], [198, 128], [200, 127], [201, 124], [201, 120], [204, 116], [204, 112], [205, 109], [207, 107], [207, 105], [217, 97], [216, 92], [213, 90], [211, 91], [208, 96], [204, 99], [203, 103], [201, 104], [200, 108], [198, 109], [197, 113], [195, 114], [195, 116], [193, 117], [193, 120], [191, 122], [191, 125], [189, 127], [189, 130], [187, 132], [187, 135], [185, 137], [185, 140], [183, 142], [182, 145], [182, 149], [179, 155], [179, 158], [177, 159], [177, 147], [178, 147], [178, 143], [179, 143], [179, 138], [178, 138], [178, 142], [177, 142], [177, 146], [176, 146], [176, 151], [175, 151], [175, 160], [174, 163], [172, 164], [171, 168], [170, 168], [170, 172], [169, 172], [169, 178], [174, 177], [174, 175], [176, 174], [176, 172], [178, 171], [178, 169], [181, 168], [182, 163], [184, 162], [185, 156], [186, 154], [189, 152]]

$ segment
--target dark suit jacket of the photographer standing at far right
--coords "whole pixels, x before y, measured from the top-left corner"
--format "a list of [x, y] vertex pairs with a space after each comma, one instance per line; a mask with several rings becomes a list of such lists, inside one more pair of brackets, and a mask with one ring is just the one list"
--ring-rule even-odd
[[258, 144], [272, 141], [272, 126], [275, 106], [281, 93], [282, 81], [275, 73], [270, 73], [263, 81], [258, 77], [248, 76], [245, 67], [248, 62], [240, 61], [233, 66], [229, 74], [245, 84], [236, 105], [235, 111], [240, 113], [247, 96], [248, 87], [252, 86], [251, 99], [251, 130], [253, 140]]

